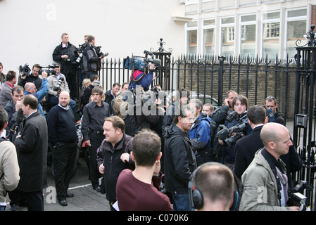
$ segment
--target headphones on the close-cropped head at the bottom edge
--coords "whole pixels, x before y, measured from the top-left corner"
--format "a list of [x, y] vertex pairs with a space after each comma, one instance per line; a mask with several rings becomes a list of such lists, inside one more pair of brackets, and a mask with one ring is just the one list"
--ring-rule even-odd
[[[194, 186], [193, 186], [194, 177], [196, 176], [196, 173], [198, 172], [198, 170], [201, 169], [201, 167], [204, 167], [206, 165], [213, 165], [213, 164], [214, 162], [204, 163], [203, 165], [196, 168], [190, 176], [188, 189], [189, 189], [190, 204], [193, 209], [198, 210], [198, 209], [201, 209], [201, 207], [203, 207], [203, 195], [201, 191], [199, 191], [198, 189], [194, 189]], [[235, 174], [234, 174], [234, 182], [236, 184], [236, 190], [234, 191], [234, 200], [233, 200], [232, 206], [229, 208], [230, 211], [236, 210], [239, 203], [239, 184], [238, 184]]]

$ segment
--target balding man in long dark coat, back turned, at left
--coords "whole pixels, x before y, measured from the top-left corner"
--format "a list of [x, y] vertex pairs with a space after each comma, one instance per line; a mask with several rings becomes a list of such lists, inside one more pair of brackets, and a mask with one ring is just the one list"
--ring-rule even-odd
[[47, 186], [47, 125], [37, 104], [33, 95], [23, 97], [21, 108], [27, 118], [21, 135], [14, 141], [20, 167], [18, 191], [29, 211], [44, 211], [43, 188]]

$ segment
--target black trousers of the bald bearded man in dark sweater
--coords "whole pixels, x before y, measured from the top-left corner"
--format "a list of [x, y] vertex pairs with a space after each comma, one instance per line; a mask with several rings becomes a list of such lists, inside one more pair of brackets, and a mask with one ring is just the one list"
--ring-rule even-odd
[[58, 143], [53, 150], [53, 173], [58, 200], [65, 200], [70, 180], [74, 175], [77, 143]]

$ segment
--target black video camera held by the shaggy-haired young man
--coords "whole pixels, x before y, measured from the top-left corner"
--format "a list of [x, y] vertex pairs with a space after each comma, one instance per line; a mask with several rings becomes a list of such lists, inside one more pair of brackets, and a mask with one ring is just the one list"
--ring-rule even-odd
[[220, 124], [217, 129], [217, 138], [224, 141], [228, 148], [232, 147], [237, 140], [244, 136], [246, 131], [246, 123], [242, 122], [236, 126], [227, 128], [225, 125]]

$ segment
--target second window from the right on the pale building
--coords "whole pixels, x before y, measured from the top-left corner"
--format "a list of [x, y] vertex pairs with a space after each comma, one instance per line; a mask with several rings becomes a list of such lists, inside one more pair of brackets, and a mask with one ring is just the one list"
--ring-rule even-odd
[[275, 58], [279, 54], [280, 13], [263, 13], [263, 57]]

